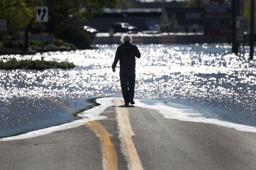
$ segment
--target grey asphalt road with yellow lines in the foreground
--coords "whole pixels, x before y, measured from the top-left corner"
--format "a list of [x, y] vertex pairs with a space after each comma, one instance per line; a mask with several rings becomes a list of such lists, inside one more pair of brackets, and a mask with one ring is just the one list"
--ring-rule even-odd
[[[135, 101], [136, 102], [136, 101]], [[116, 98], [81, 126], [0, 141], [0, 169], [255, 169], [256, 133], [164, 118]]]

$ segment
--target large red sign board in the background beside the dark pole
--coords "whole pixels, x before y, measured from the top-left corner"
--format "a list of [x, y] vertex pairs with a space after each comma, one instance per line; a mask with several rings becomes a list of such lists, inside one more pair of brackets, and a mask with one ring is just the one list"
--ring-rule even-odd
[[204, 34], [231, 35], [232, 34], [231, 4], [206, 4]]

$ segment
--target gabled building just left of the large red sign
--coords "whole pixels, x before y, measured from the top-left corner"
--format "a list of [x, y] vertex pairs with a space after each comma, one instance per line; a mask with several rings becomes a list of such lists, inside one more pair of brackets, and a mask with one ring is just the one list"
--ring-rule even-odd
[[160, 16], [162, 32], [190, 33], [204, 31], [203, 8], [165, 8]]

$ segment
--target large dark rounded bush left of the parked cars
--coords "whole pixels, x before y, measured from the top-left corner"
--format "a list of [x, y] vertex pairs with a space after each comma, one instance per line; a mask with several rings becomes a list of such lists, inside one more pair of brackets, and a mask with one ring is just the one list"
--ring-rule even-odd
[[92, 36], [75, 26], [69, 26], [60, 30], [56, 37], [63, 39], [65, 42], [73, 43], [79, 49], [90, 48], [92, 44]]

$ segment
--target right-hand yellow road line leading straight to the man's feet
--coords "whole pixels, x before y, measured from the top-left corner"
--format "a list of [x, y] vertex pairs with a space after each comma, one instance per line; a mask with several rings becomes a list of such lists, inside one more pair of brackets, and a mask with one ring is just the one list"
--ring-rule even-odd
[[[118, 98], [115, 99], [114, 103], [115, 106], [124, 105], [121, 99]], [[139, 155], [131, 139], [131, 136], [135, 134], [131, 129], [128, 110], [125, 107], [115, 107], [115, 109], [119, 135], [121, 138], [121, 142], [123, 142], [124, 144], [127, 159], [129, 160], [128, 168], [131, 170], [143, 170]]]

